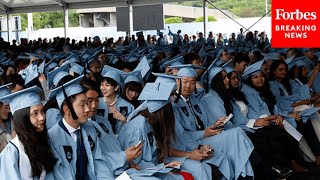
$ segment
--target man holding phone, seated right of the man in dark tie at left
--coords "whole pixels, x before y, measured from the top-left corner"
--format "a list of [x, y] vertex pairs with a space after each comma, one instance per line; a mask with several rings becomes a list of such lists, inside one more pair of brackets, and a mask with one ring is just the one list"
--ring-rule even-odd
[[86, 124], [95, 128], [103, 153], [106, 155], [108, 167], [110, 167], [114, 176], [119, 176], [128, 167], [129, 163], [141, 155], [143, 144], [138, 147], [132, 146], [123, 151], [117, 137], [113, 134], [111, 124], [108, 119], [97, 115], [99, 105], [99, 86], [87, 78], [81, 81], [88, 98], [89, 113]]

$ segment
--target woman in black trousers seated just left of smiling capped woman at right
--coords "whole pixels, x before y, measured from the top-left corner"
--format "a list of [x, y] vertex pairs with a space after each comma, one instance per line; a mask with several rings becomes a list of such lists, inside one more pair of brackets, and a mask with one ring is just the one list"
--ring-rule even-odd
[[[274, 171], [277, 173], [277, 178], [288, 177], [293, 171], [291, 169], [283, 169], [283, 167], [291, 167], [292, 163], [295, 165], [293, 168], [297, 170], [295, 167], [298, 166], [296, 160], [299, 159], [299, 143], [282, 128], [282, 121], [284, 120], [282, 116], [249, 112], [251, 109], [249, 109], [248, 100], [253, 101], [254, 99], [251, 99], [251, 97], [246, 98], [244, 93], [240, 91], [237, 73], [232, 68], [226, 68], [225, 70], [228, 79], [230, 79], [229, 88], [225, 89], [225, 91], [231, 96], [231, 109], [234, 114], [234, 118], [231, 121], [235, 126], [241, 127], [246, 132], [256, 151], [263, 159], [263, 165], [258, 170], [264, 170], [264, 172], [257, 173], [256, 178], [271, 179], [268, 174], [272, 174], [272, 169], [275, 170], [277, 168], [279, 170], [279, 167], [282, 169], [278, 173]], [[248, 73], [250, 72], [246, 74]], [[253, 113], [257, 114], [252, 117]]]

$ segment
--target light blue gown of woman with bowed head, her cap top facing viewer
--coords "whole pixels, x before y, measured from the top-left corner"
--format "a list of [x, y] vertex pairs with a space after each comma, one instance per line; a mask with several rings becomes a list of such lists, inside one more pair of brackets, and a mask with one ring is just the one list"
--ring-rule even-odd
[[[151, 131], [151, 127], [142, 115], [138, 115], [128, 123], [126, 123], [118, 136], [122, 149], [127, 149], [140, 140], [144, 140], [142, 147], [142, 155], [137, 157], [133, 162], [146, 169], [158, 165], [157, 158], [157, 141]], [[180, 158], [181, 164], [183, 164], [185, 158]], [[163, 174], [165, 179], [183, 179], [182, 176], [177, 174]]]

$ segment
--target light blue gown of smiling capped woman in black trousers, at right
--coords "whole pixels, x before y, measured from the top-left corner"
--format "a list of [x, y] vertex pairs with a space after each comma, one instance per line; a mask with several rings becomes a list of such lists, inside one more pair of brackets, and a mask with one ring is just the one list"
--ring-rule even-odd
[[[249, 119], [258, 119], [263, 114], [271, 115], [267, 103], [262, 100], [258, 91], [248, 85], [243, 85], [241, 91], [248, 101], [249, 111], [247, 116]], [[287, 112], [282, 112], [277, 105], [275, 105], [273, 113], [283, 116], [293, 127], [297, 127], [294, 118], [289, 116]]]

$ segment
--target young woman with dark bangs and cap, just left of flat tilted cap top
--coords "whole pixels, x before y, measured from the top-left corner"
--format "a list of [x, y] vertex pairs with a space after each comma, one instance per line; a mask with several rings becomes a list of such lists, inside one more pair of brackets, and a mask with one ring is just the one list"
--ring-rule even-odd
[[138, 97], [142, 91], [142, 88], [143, 88], [142, 77], [140, 79], [136, 76], [128, 76], [124, 80], [124, 88], [123, 88], [124, 90], [122, 93], [123, 99], [131, 103], [134, 106], [134, 108], [137, 108], [140, 105], [140, 101], [138, 100]]

